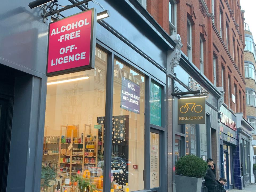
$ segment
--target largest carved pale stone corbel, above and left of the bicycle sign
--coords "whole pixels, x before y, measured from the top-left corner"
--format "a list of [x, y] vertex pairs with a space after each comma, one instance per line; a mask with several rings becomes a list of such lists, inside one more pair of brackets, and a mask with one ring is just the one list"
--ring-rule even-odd
[[174, 77], [174, 67], [179, 65], [179, 59], [181, 58], [181, 48], [183, 44], [181, 43], [181, 36], [171, 35], [171, 38], [176, 43], [174, 50], [167, 51], [167, 75]]

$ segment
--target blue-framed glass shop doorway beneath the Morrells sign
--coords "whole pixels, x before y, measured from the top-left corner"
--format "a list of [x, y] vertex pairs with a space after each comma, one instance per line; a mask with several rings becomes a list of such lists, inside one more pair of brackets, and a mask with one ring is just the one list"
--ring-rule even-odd
[[227, 180], [225, 189], [233, 189], [233, 148], [228, 145], [223, 145], [223, 177]]

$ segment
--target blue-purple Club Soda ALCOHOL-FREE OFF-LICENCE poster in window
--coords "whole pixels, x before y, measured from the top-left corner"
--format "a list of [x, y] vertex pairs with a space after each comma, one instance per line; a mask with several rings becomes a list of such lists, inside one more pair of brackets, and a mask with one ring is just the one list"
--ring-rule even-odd
[[141, 87], [129, 79], [122, 78], [121, 108], [139, 113]]

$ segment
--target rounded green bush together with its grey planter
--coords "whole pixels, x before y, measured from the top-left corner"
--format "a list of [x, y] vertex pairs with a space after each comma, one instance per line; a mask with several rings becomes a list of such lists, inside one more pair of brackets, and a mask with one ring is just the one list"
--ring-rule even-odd
[[201, 192], [202, 179], [208, 169], [207, 163], [195, 155], [186, 155], [175, 163], [176, 192]]

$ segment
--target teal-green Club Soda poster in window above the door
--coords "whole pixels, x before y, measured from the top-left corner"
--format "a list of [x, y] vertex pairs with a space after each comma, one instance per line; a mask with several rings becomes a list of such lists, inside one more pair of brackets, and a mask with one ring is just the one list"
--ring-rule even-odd
[[162, 126], [162, 88], [151, 82], [150, 86], [150, 123]]

